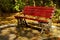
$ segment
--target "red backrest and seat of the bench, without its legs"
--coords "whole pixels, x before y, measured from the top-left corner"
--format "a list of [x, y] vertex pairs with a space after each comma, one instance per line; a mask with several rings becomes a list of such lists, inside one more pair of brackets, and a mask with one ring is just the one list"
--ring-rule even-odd
[[[38, 22], [48, 22], [47, 20], [40, 20], [40, 18], [45, 18], [45, 19], [51, 19], [52, 14], [54, 13], [54, 8], [53, 7], [34, 7], [34, 6], [25, 6], [23, 10], [24, 17], [21, 16], [15, 16], [16, 18], [25, 18], [25, 19], [30, 19], [30, 20], [35, 20]], [[34, 16], [37, 18], [29, 18], [28, 16]]]

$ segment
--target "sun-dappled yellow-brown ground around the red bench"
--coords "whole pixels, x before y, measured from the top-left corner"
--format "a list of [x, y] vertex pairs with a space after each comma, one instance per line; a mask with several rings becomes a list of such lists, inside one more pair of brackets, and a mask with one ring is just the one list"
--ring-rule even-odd
[[[17, 20], [15, 19], [15, 15], [19, 15], [19, 13], [13, 13], [10, 15], [0, 15], [0, 26], [3, 25], [8, 25], [8, 24], [17, 24]], [[30, 21], [31, 22], [31, 21]], [[54, 26], [60, 25], [60, 23], [53, 23]], [[51, 34], [53, 34], [54, 36], [51, 37], [60, 37], [60, 27], [58, 26], [57, 28], [52, 28], [52, 32]], [[29, 28], [28, 28], [29, 29]], [[31, 29], [29, 31], [27, 31], [27, 33], [24, 33], [26, 31], [22, 31], [22, 36], [19, 36], [17, 34], [16, 31], [16, 27], [9, 27], [9, 28], [5, 28], [3, 30], [1, 30], [0, 32], [0, 40], [43, 40], [43, 38], [45, 37], [49, 37], [46, 34], [41, 35], [41, 33], [37, 30], [33, 30], [31, 32]], [[17, 37], [18, 35], [18, 37]], [[42, 37], [41, 37], [42, 36]], [[16, 38], [17, 37], [17, 38]], [[16, 38], [16, 39], [15, 39]], [[55, 38], [58, 40], [58, 38]], [[49, 40], [49, 39], [46, 39]], [[52, 39], [50, 39], [52, 40]]]

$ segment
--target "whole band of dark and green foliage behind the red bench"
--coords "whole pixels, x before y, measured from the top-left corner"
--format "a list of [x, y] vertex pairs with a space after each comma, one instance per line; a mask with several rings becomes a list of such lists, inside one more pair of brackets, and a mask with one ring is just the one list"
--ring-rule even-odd
[[59, 0], [0, 0], [0, 10], [3, 12], [9, 11], [21, 11], [24, 6], [34, 6], [34, 1], [36, 6], [58, 6]]

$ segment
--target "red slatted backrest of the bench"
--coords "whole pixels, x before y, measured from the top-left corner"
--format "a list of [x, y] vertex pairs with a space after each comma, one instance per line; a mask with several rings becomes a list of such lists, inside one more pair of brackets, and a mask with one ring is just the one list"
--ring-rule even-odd
[[54, 13], [53, 7], [42, 7], [42, 6], [25, 6], [23, 13], [25, 15], [40, 16], [45, 18], [51, 18]]

